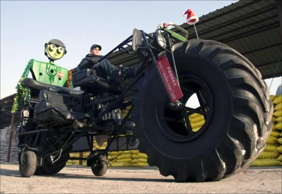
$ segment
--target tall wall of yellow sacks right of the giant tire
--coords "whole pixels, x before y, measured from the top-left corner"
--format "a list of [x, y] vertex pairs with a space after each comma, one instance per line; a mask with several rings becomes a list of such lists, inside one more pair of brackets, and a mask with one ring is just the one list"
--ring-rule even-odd
[[266, 141], [262, 154], [251, 166], [278, 166], [282, 165], [282, 95], [270, 95], [274, 112], [272, 116], [273, 127]]

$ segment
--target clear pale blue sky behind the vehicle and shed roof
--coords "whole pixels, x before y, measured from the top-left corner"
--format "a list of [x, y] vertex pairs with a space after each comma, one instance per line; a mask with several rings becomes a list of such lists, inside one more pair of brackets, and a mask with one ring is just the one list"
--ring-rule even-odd
[[[188, 8], [200, 17], [234, 2], [237, 0], [1, 0], [0, 98], [16, 92], [30, 59], [48, 62], [44, 44], [53, 38], [62, 40], [68, 51], [55, 64], [72, 69], [94, 43], [106, 54], [134, 28], [154, 32], [164, 22], [186, 22], [182, 14]], [[275, 79], [271, 93], [279, 83], [281, 80]]]

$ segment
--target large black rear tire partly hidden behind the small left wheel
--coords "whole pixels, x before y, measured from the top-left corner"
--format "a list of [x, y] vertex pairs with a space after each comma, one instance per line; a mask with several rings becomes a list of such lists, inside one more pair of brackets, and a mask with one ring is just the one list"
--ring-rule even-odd
[[[57, 131], [47, 131], [41, 133], [40, 137], [40, 148], [43, 152], [48, 151], [48, 153], [53, 153], [60, 150], [61, 146], [65, 144], [65, 139], [56, 141], [60, 138], [60, 134]], [[53, 146], [54, 145], [54, 146]], [[51, 146], [53, 148], [49, 149]], [[62, 151], [58, 151], [51, 156], [43, 156], [43, 164], [38, 166], [35, 172], [35, 175], [53, 175], [61, 171], [65, 166], [67, 161], [70, 158], [70, 152], [72, 146], [68, 146]]]

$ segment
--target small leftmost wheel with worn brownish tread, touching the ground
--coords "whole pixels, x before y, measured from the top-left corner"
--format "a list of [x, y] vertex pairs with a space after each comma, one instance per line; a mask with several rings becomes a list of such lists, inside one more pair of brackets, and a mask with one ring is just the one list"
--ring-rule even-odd
[[37, 167], [37, 157], [33, 151], [25, 151], [19, 164], [19, 173], [22, 177], [31, 177], [34, 175]]

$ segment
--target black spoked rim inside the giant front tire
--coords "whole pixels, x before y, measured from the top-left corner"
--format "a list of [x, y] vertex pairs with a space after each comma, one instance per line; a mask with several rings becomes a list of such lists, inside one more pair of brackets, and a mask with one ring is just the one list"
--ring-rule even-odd
[[[157, 103], [157, 119], [162, 126], [162, 132], [169, 139], [176, 142], [189, 142], [208, 130], [213, 112], [212, 92], [203, 79], [190, 74], [179, 76], [179, 84], [183, 93], [183, 97], [179, 99], [182, 107], [173, 110], [169, 106], [167, 95], [159, 94], [157, 100], [161, 103]], [[194, 94], [199, 103], [197, 108], [190, 107], [188, 103]], [[205, 120], [196, 131], [192, 129], [191, 118], [189, 117], [193, 113], [203, 115]]]

